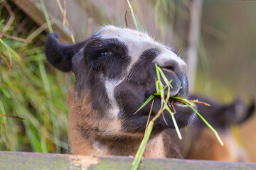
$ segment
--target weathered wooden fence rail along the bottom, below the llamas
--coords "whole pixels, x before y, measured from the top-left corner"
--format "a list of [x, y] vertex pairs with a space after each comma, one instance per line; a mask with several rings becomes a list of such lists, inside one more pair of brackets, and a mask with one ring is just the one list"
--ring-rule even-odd
[[[87, 157], [72, 154], [0, 152], [1, 170], [131, 169], [132, 157]], [[142, 159], [139, 169], [256, 169], [255, 163], [230, 163], [185, 159]]]

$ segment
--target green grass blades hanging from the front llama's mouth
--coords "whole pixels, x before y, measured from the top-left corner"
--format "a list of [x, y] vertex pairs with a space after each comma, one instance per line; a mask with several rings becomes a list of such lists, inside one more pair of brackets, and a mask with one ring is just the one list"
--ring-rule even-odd
[[[175, 128], [175, 130], [177, 132], [178, 138], [180, 140], [182, 139], [181, 132], [179, 131], [178, 125], [177, 125], [176, 120], [174, 118], [174, 114], [176, 113], [176, 109], [174, 107], [174, 102], [178, 102], [178, 103], [187, 105], [193, 111], [195, 111], [198, 114], [199, 118], [201, 118], [203, 120], [203, 122], [206, 123], [208, 128], [210, 128], [210, 130], [213, 131], [213, 133], [217, 137], [218, 141], [220, 142], [220, 145], [223, 146], [223, 142], [220, 139], [220, 137], [218, 135], [218, 132], [206, 121], [206, 119], [203, 118], [203, 116], [200, 113], [198, 113], [198, 111], [196, 111], [195, 108], [193, 108], [193, 103], [199, 103], [199, 104], [203, 104], [203, 105], [206, 105], [206, 106], [210, 106], [210, 105], [208, 103], [204, 103], [202, 101], [188, 100], [188, 99], [181, 98], [181, 97], [178, 97], [178, 96], [170, 96], [170, 91], [172, 89], [172, 86], [171, 86], [171, 81], [172, 80], [169, 81], [166, 78], [166, 76], [164, 75], [164, 72], [161, 70], [160, 67], [157, 66], [157, 64], [155, 64], [155, 67], [156, 67], [156, 76], [157, 76], [157, 79], [156, 79], [156, 93], [152, 94], [151, 96], [149, 96], [149, 98], [142, 104], [141, 107], [139, 107], [139, 109], [134, 114], [136, 114], [144, 106], [146, 106], [146, 104], [149, 103], [149, 101], [153, 100], [152, 104], [151, 104], [151, 109], [150, 109], [150, 112], [149, 112], [149, 118], [150, 118], [151, 110], [152, 110], [153, 105], [154, 105], [154, 98], [156, 96], [160, 96], [160, 98], [161, 98], [161, 107], [160, 107], [159, 111], [156, 113], [156, 115], [154, 116], [153, 119], [151, 119], [149, 121], [149, 118], [148, 118], [148, 120], [147, 120], [144, 138], [143, 138], [143, 140], [141, 142], [141, 145], [139, 145], [139, 149], [137, 151], [137, 154], [135, 155], [134, 161], [132, 162], [132, 170], [136, 170], [139, 167], [139, 163], [142, 160], [142, 155], [143, 155], [144, 150], [146, 148], [146, 143], [149, 140], [149, 137], [151, 135], [151, 131], [152, 131], [153, 126], [154, 126], [154, 120], [156, 120], [157, 118], [159, 118], [160, 115], [162, 115], [163, 119], [164, 119], [164, 121], [166, 123], [166, 120], [164, 118], [164, 111], [165, 110], [168, 111], [170, 113], [170, 115], [171, 115], [171, 119], [173, 120], [174, 128]], [[163, 86], [163, 84], [161, 83], [161, 78], [164, 80], [164, 83], [166, 84], [165, 86]], [[167, 88], [167, 94], [164, 94], [164, 90], [166, 88]], [[171, 111], [171, 108], [173, 109], [174, 112]]]

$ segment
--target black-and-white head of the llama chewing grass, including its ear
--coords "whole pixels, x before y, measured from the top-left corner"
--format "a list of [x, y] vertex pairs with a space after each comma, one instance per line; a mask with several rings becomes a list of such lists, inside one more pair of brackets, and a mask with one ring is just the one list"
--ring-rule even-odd
[[[168, 47], [152, 40], [148, 35], [126, 28], [105, 26], [85, 42], [63, 45], [58, 35], [48, 36], [46, 57], [54, 67], [63, 72], [73, 71], [76, 78], [75, 100], [87, 98], [90, 104], [90, 122], [105, 122], [104, 128], [95, 123], [100, 135], [111, 137], [142, 137], [149, 116], [151, 103], [142, 106], [156, 92], [155, 63], [163, 68], [168, 79], [172, 79], [171, 96], [187, 98], [188, 81], [186, 63]], [[151, 118], [159, 111], [161, 100], [156, 98]], [[88, 111], [87, 111], [88, 112]], [[194, 117], [190, 108], [176, 106], [178, 126], [186, 126]], [[84, 114], [85, 113], [81, 113]], [[169, 125], [163, 118], [156, 120], [153, 133], [174, 128], [169, 113], [164, 112]], [[79, 120], [82, 121], [82, 120]], [[85, 126], [84, 124], [81, 124]]]

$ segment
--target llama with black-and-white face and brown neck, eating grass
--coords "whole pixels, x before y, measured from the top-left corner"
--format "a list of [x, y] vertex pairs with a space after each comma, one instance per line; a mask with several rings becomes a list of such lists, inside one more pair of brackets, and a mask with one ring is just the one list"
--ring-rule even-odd
[[[75, 89], [68, 98], [73, 154], [136, 154], [151, 103], [134, 112], [156, 92], [155, 63], [172, 79], [170, 95], [188, 97], [186, 63], [169, 47], [136, 30], [105, 26], [76, 45], [62, 44], [53, 33], [48, 36], [46, 57], [57, 69], [75, 74]], [[156, 98], [151, 118], [160, 103]], [[196, 117], [188, 107], [176, 106], [176, 112], [179, 128]], [[181, 157], [166, 131], [174, 128], [171, 115], [164, 112], [164, 116], [169, 125], [163, 118], [155, 121], [144, 157]]]

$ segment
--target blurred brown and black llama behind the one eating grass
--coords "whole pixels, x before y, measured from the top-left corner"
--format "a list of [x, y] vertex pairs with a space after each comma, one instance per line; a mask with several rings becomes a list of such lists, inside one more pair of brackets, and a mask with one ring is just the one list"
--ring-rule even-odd
[[210, 103], [210, 107], [197, 105], [198, 111], [210, 125], [218, 131], [224, 142], [221, 147], [215, 135], [203, 121], [198, 120], [191, 128], [191, 149], [188, 159], [207, 159], [215, 161], [245, 162], [246, 152], [240, 148], [231, 132], [231, 125], [241, 125], [252, 118], [255, 111], [255, 102], [247, 106], [241, 98], [236, 98], [233, 103], [223, 104], [207, 96], [191, 95], [191, 99], [198, 99]]

